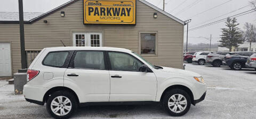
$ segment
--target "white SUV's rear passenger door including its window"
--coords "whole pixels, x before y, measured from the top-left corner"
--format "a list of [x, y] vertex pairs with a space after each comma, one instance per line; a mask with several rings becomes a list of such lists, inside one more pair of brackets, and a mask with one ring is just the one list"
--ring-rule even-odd
[[64, 86], [71, 85], [82, 94], [80, 103], [109, 101], [110, 79], [105, 52], [76, 51], [64, 74]]

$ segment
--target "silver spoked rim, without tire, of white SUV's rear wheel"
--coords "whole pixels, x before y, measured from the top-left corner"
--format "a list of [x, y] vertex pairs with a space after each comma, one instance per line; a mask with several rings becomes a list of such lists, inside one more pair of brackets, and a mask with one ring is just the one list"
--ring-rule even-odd
[[55, 97], [51, 102], [51, 109], [55, 115], [64, 116], [71, 111], [71, 101], [65, 96]]

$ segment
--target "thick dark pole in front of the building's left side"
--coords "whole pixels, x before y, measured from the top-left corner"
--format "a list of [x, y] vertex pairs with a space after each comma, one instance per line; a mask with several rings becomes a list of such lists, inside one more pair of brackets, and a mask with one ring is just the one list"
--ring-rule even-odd
[[25, 35], [24, 35], [24, 20], [23, 20], [23, 2], [19, 0], [19, 19], [20, 19], [20, 54], [21, 54], [21, 69], [27, 69], [27, 56], [25, 51]]

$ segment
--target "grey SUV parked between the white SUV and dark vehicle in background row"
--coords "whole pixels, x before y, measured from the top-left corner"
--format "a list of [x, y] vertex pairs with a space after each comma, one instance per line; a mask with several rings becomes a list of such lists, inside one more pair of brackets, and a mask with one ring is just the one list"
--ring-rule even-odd
[[206, 56], [206, 63], [212, 64], [212, 66], [214, 67], [220, 67], [222, 65], [222, 61], [224, 60], [226, 54], [228, 54], [228, 52], [209, 53]]

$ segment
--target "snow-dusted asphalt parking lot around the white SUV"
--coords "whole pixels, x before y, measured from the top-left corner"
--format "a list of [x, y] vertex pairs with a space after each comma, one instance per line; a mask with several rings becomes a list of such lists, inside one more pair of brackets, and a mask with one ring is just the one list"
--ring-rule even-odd
[[[186, 64], [186, 70], [201, 74], [207, 83], [205, 100], [182, 117], [171, 117], [158, 105], [89, 106], [73, 118], [256, 118], [256, 71], [229, 67]], [[0, 118], [51, 118], [45, 106], [31, 104], [13, 95], [14, 86], [0, 81]]]

